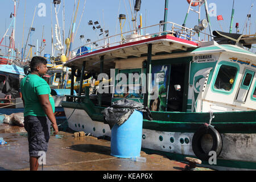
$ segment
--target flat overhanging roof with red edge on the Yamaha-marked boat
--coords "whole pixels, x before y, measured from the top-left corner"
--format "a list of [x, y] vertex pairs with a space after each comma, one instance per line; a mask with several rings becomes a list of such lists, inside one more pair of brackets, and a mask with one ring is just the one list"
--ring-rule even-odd
[[129, 56], [141, 57], [147, 54], [148, 44], [152, 44], [152, 55], [160, 52], [187, 51], [189, 48], [197, 48], [199, 45], [191, 40], [176, 38], [171, 35], [156, 36], [134, 42], [120, 44], [118, 46], [106, 47], [76, 56], [65, 63], [67, 67], [82, 67], [82, 62], [86, 61], [86, 70], [97, 70], [100, 66], [101, 56], [104, 56], [104, 69], [113, 68], [114, 61], [127, 59]]

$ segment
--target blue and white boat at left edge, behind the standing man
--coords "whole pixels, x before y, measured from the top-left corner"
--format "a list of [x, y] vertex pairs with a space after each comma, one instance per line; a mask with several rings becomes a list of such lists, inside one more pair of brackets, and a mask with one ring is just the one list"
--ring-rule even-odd
[[[20, 62], [19, 51], [15, 48], [16, 1], [14, 1], [14, 13], [11, 13], [10, 18], [11, 23], [0, 40], [0, 113], [20, 104], [19, 81], [26, 72], [25, 65]], [[9, 46], [3, 45], [3, 40], [7, 36], [9, 36]], [[3, 52], [3, 48], [6, 49], [6, 53]]]

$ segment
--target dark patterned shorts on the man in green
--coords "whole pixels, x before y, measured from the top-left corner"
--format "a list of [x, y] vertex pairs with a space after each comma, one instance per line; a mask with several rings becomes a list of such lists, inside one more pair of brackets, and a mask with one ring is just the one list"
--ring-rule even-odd
[[47, 117], [28, 115], [24, 117], [30, 156], [38, 157], [39, 151], [48, 150], [51, 122]]

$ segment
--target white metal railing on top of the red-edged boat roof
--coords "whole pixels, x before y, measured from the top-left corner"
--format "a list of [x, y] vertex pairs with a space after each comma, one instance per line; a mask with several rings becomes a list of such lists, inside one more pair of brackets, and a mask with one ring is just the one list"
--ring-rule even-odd
[[[167, 31], [163, 31], [164, 24], [166, 24]], [[204, 34], [203, 32], [200, 33]], [[103, 35], [105, 36], [105, 34]], [[120, 34], [113, 36], [105, 36], [104, 38], [97, 40], [95, 42], [89, 42], [87, 44], [84, 44], [83, 46], [73, 49], [71, 59], [102, 48], [119, 46], [121, 44], [135, 42], [138, 40], [144, 40], [148, 38], [154, 38], [156, 36], [162, 35], [171, 35], [185, 40], [197, 41], [195, 39], [195, 35], [197, 35], [197, 32], [192, 28], [187, 28], [173, 22], [165, 22], [154, 24], [147, 27], [137, 28], [136, 30], [121, 32]], [[210, 35], [208, 35], [208, 39], [209, 36]], [[86, 50], [84, 50], [85, 47]]]

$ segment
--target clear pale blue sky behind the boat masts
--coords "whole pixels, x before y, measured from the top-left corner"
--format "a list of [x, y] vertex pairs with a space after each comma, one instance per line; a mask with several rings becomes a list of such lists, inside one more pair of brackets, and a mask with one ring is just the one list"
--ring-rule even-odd
[[[76, 0], [76, 6], [77, 2]], [[131, 6], [133, 6], [135, 0], [130, 0]], [[11, 23], [10, 14], [14, 13], [14, 2], [13, 0], [0, 0], [0, 38], [5, 34], [5, 31]], [[35, 12], [34, 22], [32, 27], [35, 31], [29, 36], [28, 44], [36, 46], [36, 40], [39, 42], [39, 46], [43, 39], [46, 39], [46, 48], [42, 53], [51, 53], [51, 3], [52, 0], [17, 0], [17, 16], [16, 16], [16, 33], [15, 33], [15, 47], [21, 51], [26, 44], [28, 38], [28, 30], [31, 27], [33, 15]], [[74, 10], [75, 0], [61, 0], [61, 5], [57, 5], [59, 9], [58, 19], [59, 26], [63, 30], [63, 2], [65, 4], [65, 38], [68, 36], [69, 27], [71, 25], [72, 14]], [[185, 15], [188, 10], [188, 3], [186, 0], [179, 1], [168, 1], [168, 16], [167, 20], [169, 22], [174, 22], [182, 25], [185, 19]], [[85, 6], [84, 6], [85, 3]], [[234, 1], [234, 22], [233, 22], [233, 33], [236, 32], [236, 23], [240, 24], [240, 33], [245, 25], [247, 14], [251, 14], [250, 21], [247, 19], [247, 34], [256, 33], [256, 1], [255, 0], [235, 0]], [[160, 20], [164, 19], [164, 0], [142, 0], [141, 10], [143, 26], [150, 26], [152, 24], [158, 24]], [[230, 18], [232, 14], [233, 0], [208, 0], [208, 9], [210, 11], [210, 23], [213, 30], [219, 31], [229, 31]], [[251, 5], [254, 5], [251, 8]], [[36, 11], [35, 11], [36, 7]], [[45, 8], [44, 8], [45, 7]], [[85, 8], [84, 8], [85, 7]], [[26, 11], [25, 11], [26, 9]], [[84, 13], [82, 11], [84, 9]], [[197, 10], [197, 7], [195, 7]], [[127, 10], [127, 11], [126, 11]], [[55, 14], [52, 5], [53, 14], [53, 32], [55, 28]], [[82, 19], [79, 28], [77, 26], [80, 22], [82, 14]], [[129, 0], [80, 0], [79, 11], [77, 13], [76, 20], [76, 37], [73, 42], [72, 48], [77, 48], [82, 44], [85, 44], [86, 39], [91, 39], [95, 41], [98, 39], [100, 31], [93, 31], [92, 26], [88, 25], [89, 20], [95, 22], [96, 20], [100, 23], [101, 27], [105, 30], [109, 30], [109, 35], [115, 35], [120, 33], [119, 23], [117, 24], [119, 14], [125, 14], [127, 19], [123, 27], [123, 31], [130, 31], [129, 20], [131, 20], [131, 10]], [[222, 15], [224, 20], [217, 21], [217, 15]], [[25, 19], [24, 19], [25, 17]], [[128, 20], [129, 18], [129, 20]], [[201, 19], [205, 18], [204, 9], [201, 10]], [[139, 19], [138, 19], [139, 22]], [[198, 15], [190, 11], [186, 27], [193, 28], [198, 22]], [[131, 22], [130, 22], [131, 23]], [[24, 32], [23, 32], [24, 24]], [[132, 24], [131, 24], [132, 26]], [[43, 31], [44, 30], [44, 31]], [[207, 28], [207, 33], [209, 30]], [[243, 31], [246, 34], [246, 28]], [[10, 31], [9, 34], [10, 35]], [[62, 35], [62, 34], [61, 34]], [[81, 41], [80, 35], [84, 35], [85, 39]], [[55, 35], [53, 35], [54, 43], [56, 43]], [[102, 36], [100, 37], [102, 38]], [[203, 39], [203, 38], [201, 38]], [[2, 44], [9, 44], [9, 38], [5, 39]], [[255, 44], [254, 44], [254, 47]], [[3, 52], [5, 48], [1, 47]], [[27, 48], [26, 55], [29, 48]], [[251, 49], [251, 51], [256, 52], [256, 48]], [[33, 49], [33, 53], [36, 52], [36, 48]], [[55, 56], [57, 51], [55, 51]]]

